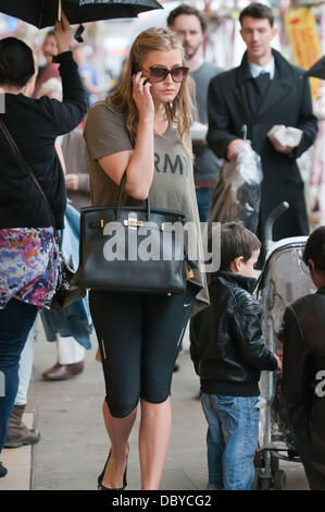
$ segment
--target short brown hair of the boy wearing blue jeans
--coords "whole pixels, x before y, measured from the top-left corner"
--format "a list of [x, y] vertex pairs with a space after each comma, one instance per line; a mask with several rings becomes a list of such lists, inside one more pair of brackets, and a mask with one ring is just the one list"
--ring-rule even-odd
[[221, 270], [230, 270], [232, 263], [243, 257], [248, 261], [253, 251], [261, 248], [258, 236], [238, 222], [226, 222], [221, 227]]

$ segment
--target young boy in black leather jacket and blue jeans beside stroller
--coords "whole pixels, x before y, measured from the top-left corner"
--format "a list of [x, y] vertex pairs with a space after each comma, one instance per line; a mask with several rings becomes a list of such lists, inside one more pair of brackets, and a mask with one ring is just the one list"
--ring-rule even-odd
[[190, 325], [190, 353], [209, 424], [208, 489], [250, 489], [260, 374], [280, 366], [263, 343], [261, 305], [251, 295], [260, 247], [259, 239], [242, 224], [222, 225], [221, 268], [211, 275], [211, 304]]

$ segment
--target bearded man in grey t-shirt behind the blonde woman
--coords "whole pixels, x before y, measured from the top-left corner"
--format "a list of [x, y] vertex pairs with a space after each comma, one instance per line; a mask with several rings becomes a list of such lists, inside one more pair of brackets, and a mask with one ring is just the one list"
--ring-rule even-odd
[[[183, 3], [171, 11], [167, 25], [176, 32], [184, 47], [190, 76], [196, 83], [199, 121], [208, 126], [209, 84], [211, 78], [223, 70], [203, 59], [202, 47], [207, 22], [198, 9]], [[192, 141], [192, 149], [196, 157], [193, 170], [200, 221], [207, 222], [222, 160], [208, 147], [205, 137]]]

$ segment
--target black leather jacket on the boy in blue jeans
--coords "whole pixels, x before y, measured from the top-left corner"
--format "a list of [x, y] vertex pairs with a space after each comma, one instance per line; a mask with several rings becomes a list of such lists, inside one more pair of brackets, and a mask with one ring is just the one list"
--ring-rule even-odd
[[190, 354], [204, 392], [255, 397], [261, 370], [277, 368], [263, 342], [261, 305], [251, 295], [254, 283], [220, 270], [211, 277], [210, 306], [191, 319]]

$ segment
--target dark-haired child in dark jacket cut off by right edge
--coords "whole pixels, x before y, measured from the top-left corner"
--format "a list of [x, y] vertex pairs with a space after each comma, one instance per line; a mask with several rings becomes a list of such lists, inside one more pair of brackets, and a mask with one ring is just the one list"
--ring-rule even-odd
[[317, 292], [285, 312], [283, 392], [312, 490], [325, 489], [325, 225], [307, 241], [303, 261]]

